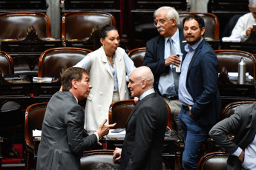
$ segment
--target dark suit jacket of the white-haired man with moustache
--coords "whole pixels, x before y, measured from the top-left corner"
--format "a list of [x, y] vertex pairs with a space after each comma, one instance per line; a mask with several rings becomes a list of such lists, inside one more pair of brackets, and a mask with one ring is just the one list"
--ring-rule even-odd
[[[180, 35], [180, 50], [184, 54], [185, 41], [183, 30], [179, 30]], [[184, 56], [184, 55], [183, 55]], [[145, 50], [145, 57], [143, 60], [143, 65], [151, 69], [154, 74], [154, 89], [158, 90], [158, 82], [160, 76], [169, 72], [170, 67], [165, 66], [165, 38], [159, 35], [152, 38], [147, 42], [147, 47]], [[177, 80], [178, 83], [179, 80]]]

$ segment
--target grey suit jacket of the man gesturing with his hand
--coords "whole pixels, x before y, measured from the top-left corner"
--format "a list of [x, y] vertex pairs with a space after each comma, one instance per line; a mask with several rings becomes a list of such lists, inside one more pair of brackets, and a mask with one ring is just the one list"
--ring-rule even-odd
[[97, 143], [84, 123], [85, 112], [73, 94], [56, 92], [47, 104], [36, 169], [79, 169], [82, 152]]

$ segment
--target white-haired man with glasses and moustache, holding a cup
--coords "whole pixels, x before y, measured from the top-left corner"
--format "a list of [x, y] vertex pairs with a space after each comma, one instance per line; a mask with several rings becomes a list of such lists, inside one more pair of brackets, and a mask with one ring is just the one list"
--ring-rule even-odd
[[179, 13], [173, 7], [160, 7], [154, 12], [154, 24], [160, 35], [147, 42], [143, 65], [153, 72], [154, 89], [170, 106], [172, 126], [180, 140], [183, 140], [183, 132], [178, 120], [180, 72], [175, 69], [180, 65], [181, 60], [176, 54], [184, 53], [185, 46], [183, 30], [178, 28]]

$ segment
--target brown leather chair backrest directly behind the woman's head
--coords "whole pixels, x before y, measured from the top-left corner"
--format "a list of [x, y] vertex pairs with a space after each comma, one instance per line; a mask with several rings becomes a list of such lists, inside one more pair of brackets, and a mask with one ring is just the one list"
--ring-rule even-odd
[[111, 13], [96, 11], [65, 13], [62, 16], [62, 39], [82, 40], [91, 38], [94, 27], [102, 27], [106, 24], [116, 26], [116, 19]]

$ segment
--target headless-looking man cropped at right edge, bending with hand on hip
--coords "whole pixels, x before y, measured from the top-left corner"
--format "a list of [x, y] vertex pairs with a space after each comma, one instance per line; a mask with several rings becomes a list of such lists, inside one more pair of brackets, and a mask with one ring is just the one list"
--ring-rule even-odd
[[[231, 133], [233, 141], [227, 136]], [[228, 170], [256, 169], [256, 103], [237, 106], [234, 115], [214, 125], [209, 135], [230, 155]]]

